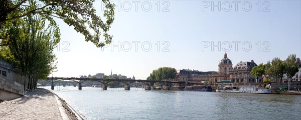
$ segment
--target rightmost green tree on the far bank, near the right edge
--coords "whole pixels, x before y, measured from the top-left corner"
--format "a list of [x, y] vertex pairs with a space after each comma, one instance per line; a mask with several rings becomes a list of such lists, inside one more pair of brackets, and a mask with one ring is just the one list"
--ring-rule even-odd
[[285, 73], [288, 78], [291, 78], [298, 72], [298, 64], [296, 63], [296, 54], [287, 56], [284, 62]]

